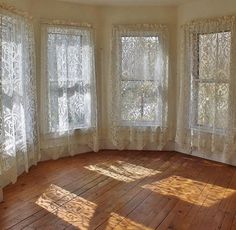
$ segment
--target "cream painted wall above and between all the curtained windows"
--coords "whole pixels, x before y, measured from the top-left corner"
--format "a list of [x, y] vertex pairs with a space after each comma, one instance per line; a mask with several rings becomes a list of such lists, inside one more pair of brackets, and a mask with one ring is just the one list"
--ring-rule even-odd
[[175, 129], [176, 90], [179, 80], [177, 76], [178, 55], [180, 47], [180, 25], [196, 18], [214, 17], [236, 13], [235, 0], [197, 0], [177, 7], [158, 6], [91, 6], [75, 3], [63, 3], [55, 0], [5, 0], [17, 8], [28, 11], [34, 17], [37, 44], [37, 80], [40, 87], [40, 20], [63, 19], [76, 22], [91, 23], [96, 30], [96, 66], [99, 124], [102, 129], [101, 139], [108, 140], [108, 82], [111, 66], [111, 30], [112, 24], [132, 23], [164, 23], [169, 28], [170, 37], [170, 66], [169, 81], [170, 107], [169, 124]]

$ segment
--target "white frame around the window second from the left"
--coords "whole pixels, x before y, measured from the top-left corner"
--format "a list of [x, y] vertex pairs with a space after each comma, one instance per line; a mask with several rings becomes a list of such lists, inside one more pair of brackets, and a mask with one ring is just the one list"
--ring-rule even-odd
[[[87, 81], [87, 85], [90, 89], [90, 96], [91, 96], [91, 103], [89, 105], [90, 107], [90, 122], [89, 124], [85, 124], [85, 125], [79, 125], [76, 127], [70, 127], [66, 130], [51, 130], [49, 127], [49, 109], [47, 108], [47, 103], [49, 103], [49, 99], [48, 99], [48, 91], [47, 91], [47, 87], [49, 87], [48, 85], [48, 58], [47, 58], [47, 49], [48, 49], [48, 29], [65, 29], [65, 30], [77, 30], [78, 34], [79, 31], [81, 31], [81, 34], [79, 34], [78, 36], [80, 36], [82, 38], [83, 32], [86, 31], [86, 33], [89, 34], [89, 38], [90, 38], [90, 45], [91, 45], [91, 56], [89, 57], [89, 61], [92, 63], [92, 67], [90, 70], [90, 77], [89, 77], [89, 81], [88, 79], [83, 80], [82, 81]], [[63, 35], [70, 35], [70, 33], [65, 33]], [[74, 34], [71, 34], [72, 36], [74, 36]], [[41, 81], [41, 114], [42, 114], [42, 119], [41, 119], [41, 131], [44, 134], [49, 134], [49, 135], [58, 135], [59, 136], [63, 136], [63, 133], [66, 135], [67, 132], [85, 132], [85, 131], [89, 131], [92, 130], [94, 128], [96, 128], [97, 126], [97, 102], [96, 102], [96, 81], [95, 81], [95, 48], [94, 48], [94, 34], [93, 34], [93, 29], [92, 26], [89, 24], [79, 24], [79, 23], [57, 23], [57, 22], [42, 22], [41, 24], [41, 75], [42, 75], [42, 81]], [[82, 39], [83, 40], [83, 39]], [[83, 58], [83, 57], [82, 57]], [[83, 60], [82, 60], [83, 62]], [[83, 63], [82, 63], [83, 64]], [[86, 63], [87, 64], [87, 63]], [[67, 76], [68, 77], [68, 76]], [[45, 104], [46, 103], [46, 104]]]

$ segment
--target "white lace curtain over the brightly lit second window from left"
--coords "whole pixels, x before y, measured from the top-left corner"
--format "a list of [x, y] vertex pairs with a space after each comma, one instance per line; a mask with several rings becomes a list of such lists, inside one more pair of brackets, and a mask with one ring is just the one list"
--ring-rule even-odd
[[42, 157], [98, 151], [93, 29], [42, 24]]

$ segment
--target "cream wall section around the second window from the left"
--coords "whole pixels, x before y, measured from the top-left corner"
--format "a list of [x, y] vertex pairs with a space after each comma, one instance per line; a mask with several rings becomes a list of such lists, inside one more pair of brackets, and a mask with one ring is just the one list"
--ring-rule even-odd
[[[31, 0], [32, 6], [30, 9], [30, 14], [34, 17], [34, 28], [36, 35], [36, 52], [37, 52], [37, 80], [38, 80], [38, 89], [40, 90], [40, 68], [41, 68], [41, 29], [40, 21], [44, 19], [59, 19], [72, 22], [86, 22], [92, 24], [96, 33], [95, 33], [95, 44], [96, 44], [96, 76], [97, 76], [97, 91], [100, 95], [101, 92], [101, 73], [100, 73], [100, 16], [98, 8], [95, 6], [85, 6], [78, 5], [75, 3], [64, 3], [57, 2], [53, 0]], [[38, 98], [40, 100], [40, 95]], [[101, 100], [99, 98], [98, 108], [101, 108]], [[99, 116], [101, 111], [99, 110]], [[98, 119], [100, 120], [100, 119]], [[101, 127], [101, 124], [99, 124]], [[79, 150], [78, 150], [79, 151]], [[88, 152], [88, 148], [81, 146], [80, 152]], [[42, 159], [47, 156], [42, 156]]]

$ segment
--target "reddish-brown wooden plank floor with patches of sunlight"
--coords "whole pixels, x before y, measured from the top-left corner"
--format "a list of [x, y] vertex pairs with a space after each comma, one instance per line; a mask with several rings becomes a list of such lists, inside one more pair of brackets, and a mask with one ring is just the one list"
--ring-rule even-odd
[[4, 197], [0, 229], [236, 229], [236, 168], [175, 152], [43, 162]]

